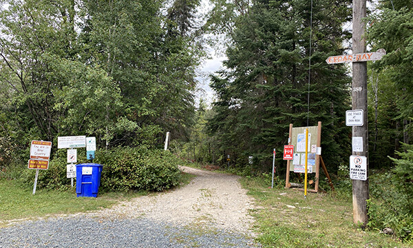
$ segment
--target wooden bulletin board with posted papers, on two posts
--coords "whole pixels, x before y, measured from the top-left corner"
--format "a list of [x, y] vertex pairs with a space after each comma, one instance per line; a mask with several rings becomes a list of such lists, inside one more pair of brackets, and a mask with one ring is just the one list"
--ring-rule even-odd
[[[290, 172], [305, 172], [306, 129], [308, 128], [308, 176], [313, 178], [315, 188], [309, 192], [318, 192], [319, 187], [319, 154], [321, 154], [321, 121], [313, 127], [293, 127], [290, 124], [288, 145], [294, 145], [293, 160], [287, 161], [286, 188], [290, 184]], [[318, 154], [317, 154], [318, 153]]]

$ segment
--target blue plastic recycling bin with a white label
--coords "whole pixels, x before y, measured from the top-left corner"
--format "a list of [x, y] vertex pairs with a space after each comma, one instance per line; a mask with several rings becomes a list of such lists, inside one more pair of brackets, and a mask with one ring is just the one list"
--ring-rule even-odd
[[77, 197], [97, 197], [100, 186], [102, 165], [82, 163], [76, 165], [76, 194]]

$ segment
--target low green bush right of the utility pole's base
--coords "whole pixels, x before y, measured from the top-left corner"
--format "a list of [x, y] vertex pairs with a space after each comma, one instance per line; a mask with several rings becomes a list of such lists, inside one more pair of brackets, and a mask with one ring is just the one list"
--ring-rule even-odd
[[390, 227], [403, 240], [413, 241], [413, 145], [403, 145], [407, 152], [390, 158], [395, 166], [390, 172], [372, 173], [368, 201], [369, 227]]

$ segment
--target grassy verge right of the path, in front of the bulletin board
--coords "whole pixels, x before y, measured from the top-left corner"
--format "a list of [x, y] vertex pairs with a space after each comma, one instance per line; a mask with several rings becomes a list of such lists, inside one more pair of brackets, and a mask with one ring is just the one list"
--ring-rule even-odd
[[351, 198], [308, 193], [304, 199], [304, 192], [268, 189], [257, 178], [243, 178], [242, 185], [260, 206], [251, 214], [263, 247], [410, 247], [354, 225]]

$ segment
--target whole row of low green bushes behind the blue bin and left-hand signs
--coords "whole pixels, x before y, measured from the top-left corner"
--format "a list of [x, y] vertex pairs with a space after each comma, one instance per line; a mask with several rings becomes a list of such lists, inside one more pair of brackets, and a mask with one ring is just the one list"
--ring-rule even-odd
[[[85, 155], [80, 153], [78, 152], [78, 161], [86, 161]], [[56, 158], [49, 163], [49, 169], [39, 172], [37, 187], [68, 189], [70, 179], [66, 178], [66, 159], [65, 152], [56, 154]], [[160, 149], [117, 147], [107, 151], [98, 150], [94, 163], [103, 165], [100, 191], [162, 191], [180, 182], [180, 160]], [[35, 170], [27, 169], [26, 165], [21, 178], [25, 184], [33, 185], [34, 174]]]

